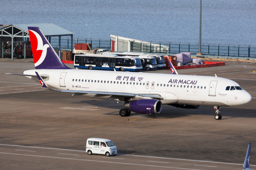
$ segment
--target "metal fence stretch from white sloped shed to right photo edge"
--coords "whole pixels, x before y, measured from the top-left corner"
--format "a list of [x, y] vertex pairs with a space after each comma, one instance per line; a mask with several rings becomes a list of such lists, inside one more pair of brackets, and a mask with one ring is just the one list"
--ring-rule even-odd
[[[167, 48], [166, 48], [167, 47]], [[131, 42], [131, 52], [144, 53], [169, 53], [176, 54], [181, 52], [198, 53], [198, 43], [138, 43]], [[256, 47], [245, 45], [229, 44], [205, 44], [201, 45], [203, 55], [234, 56], [234, 57], [256, 57]]]

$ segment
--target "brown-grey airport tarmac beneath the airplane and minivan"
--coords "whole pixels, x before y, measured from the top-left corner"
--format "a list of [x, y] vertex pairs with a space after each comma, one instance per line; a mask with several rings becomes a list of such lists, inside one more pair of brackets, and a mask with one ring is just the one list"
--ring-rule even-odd
[[[67, 64], [73, 68], [72, 64]], [[252, 95], [249, 104], [181, 109], [121, 117], [123, 103], [44, 90], [29, 78], [3, 73], [34, 63], [0, 62], [1, 169], [242, 169], [252, 142], [256, 167], [256, 63], [180, 69], [179, 74], [229, 78]], [[170, 73], [170, 70], [149, 72]], [[109, 138], [117, 155], [88, 155], [87, 138]]]

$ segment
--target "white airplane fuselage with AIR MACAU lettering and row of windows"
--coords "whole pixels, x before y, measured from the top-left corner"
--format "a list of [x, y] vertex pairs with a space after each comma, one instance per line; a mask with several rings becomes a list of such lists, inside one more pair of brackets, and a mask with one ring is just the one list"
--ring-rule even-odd
[[[35, 71], [49, 75], [45, 83], [60, 90], [159, 94], [162, 104], [239, 106], [252, 99], [245, 90], [226, 90], [227, 86], [239, 86], [236, 82], [212, 76], [75, 69], [26, 70], [24, 74], [35, 75]], [[92, 98], [94, 94], [83, 96]]]

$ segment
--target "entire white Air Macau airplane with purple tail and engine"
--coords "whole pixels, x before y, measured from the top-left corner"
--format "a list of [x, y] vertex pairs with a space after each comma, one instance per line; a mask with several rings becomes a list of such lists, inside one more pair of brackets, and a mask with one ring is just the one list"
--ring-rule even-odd
[[38, 27], [28, 27], [28, 32], [36, 69], [16, 75], [39, 81], [47, 90], [53, 90], [51, 86], [56, 91], [71, 92], [72, 96], [122, 101], [121, 116], [129, 116], [131, 111], [158, 114], [162, 104], [166, 104], [187, 109], [213, 106], [215, 119], [219, 120], [220, 107], [239, 106], [252, 100], [232, 80], [179, 75], [171, 63], [172, 74], [70, 69]]

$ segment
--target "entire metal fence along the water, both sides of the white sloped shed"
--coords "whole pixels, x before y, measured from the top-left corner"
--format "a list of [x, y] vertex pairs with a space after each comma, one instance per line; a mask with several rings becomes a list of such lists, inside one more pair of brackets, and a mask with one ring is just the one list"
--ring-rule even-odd
[[[94, 39], [74, 39], [73, 48], [75, 43], [90, 43], [93, 48], [111, 49], [111, 40], [94, 40]], [[59, 39], [52, 38], [51, 45], [53, 48], [59, 48]], [[61, 48], [70, 49], [71, 39], [61, 39]], [[196, 55], [198, 53], [198, 43], [138, 43], [131, 41], [131, 52], [144, 52], [144, 53], [169, 53], [177, 54], [181, 52], [191, 52]], [[230, 44], [206, 44], [202, 43], [201, 53], [203, 55], [217, 55], [217, 56], [233, 56], [233, 57], [256, 57], [255, 46], [245, 45], [230, 45]]]

